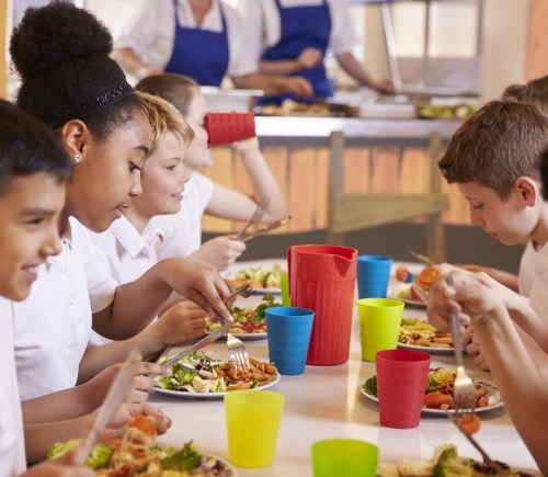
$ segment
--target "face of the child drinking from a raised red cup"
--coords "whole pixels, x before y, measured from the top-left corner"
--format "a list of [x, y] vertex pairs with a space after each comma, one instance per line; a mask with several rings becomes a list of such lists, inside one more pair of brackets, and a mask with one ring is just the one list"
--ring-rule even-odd
[[186, 157], [184, 159], [186, 166], [193, 171], [213, 166], [212, 150], [207, 145], [209, 136], [204, 127], [206, 113], [205, 98], [199, 91], [196, 91], [192, 98], [189, 114], [186, 115], [186, 121], [194, 129], [195, 136], [186, 150]]

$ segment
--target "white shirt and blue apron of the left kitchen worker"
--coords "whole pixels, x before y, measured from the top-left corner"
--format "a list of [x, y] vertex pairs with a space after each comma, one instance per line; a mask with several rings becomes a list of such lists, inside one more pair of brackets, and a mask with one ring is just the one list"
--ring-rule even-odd
[[116, 48], [132, 48], [146, 64], [220, 86], [225, 76], [256, 72], [240, 14], [214, 0], [197, 25], [186, 0], [149, 0], [126, 25]]

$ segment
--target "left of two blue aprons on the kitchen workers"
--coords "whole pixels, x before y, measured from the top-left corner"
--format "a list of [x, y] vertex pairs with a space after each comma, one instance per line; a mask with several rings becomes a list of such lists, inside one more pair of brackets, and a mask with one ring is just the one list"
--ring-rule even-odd
[[228, 69], [227, 22], [220, 8], [222, 31], [220, 33], [201, 29], [186, 29], [179, 24], [178, 0], [175, 9], [175, 38], [173, 53], [165, 72], [176, 72], [193, 78], [198, 84], [219, 87]]

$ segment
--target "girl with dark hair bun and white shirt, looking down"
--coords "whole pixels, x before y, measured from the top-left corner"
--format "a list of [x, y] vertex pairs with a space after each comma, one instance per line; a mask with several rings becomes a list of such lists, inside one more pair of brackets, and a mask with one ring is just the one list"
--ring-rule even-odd
[[[77, 363], [92, 328], [110, 339], [130, 338], [173, 291], [231, 320], [222, 303], [229, 288], [212, 265], [168, 259], [118, 285], [91, 240], [90, 230], [109, 228], [141, 193], [140, 169], [152, 143], [141, 103], [109, 57], [111, 50], [112, 37], [95, 16], [62, 1], [28, 9], [11, 37], [22, 80], [18, 104], [56, 129], [73, 164], [59, 227], [61, 251], [41, 266], [28, 299], [14, 306], [22, 395], [26, 389], [28, 399], [32, 393], [67, 389], [71, 398], [59, 393], [24, 402], [25, 425], [75, 418], [102, 402], [113, 372], [102, 386], [69, 389], [79, 379]], [[148, 373], [167, 370], [141, 363], [138, 374]], [[134, 385], [148, 389], [147, 379], [138, 376]], [[27, 455], [35, 462], [52, 442], [47, 433], [27, 438]]]

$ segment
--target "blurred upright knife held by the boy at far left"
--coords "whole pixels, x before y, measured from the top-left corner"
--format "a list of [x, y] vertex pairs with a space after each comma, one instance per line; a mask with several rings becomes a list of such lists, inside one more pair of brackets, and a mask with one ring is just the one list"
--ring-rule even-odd
[[106, 429], [106, 425], [113, 418], [114, 413], [117, 411], [122, 402], [124, 402], [129, 388], [132, 387], [133, 378], [135, 376], [135, 370], [137, 363], [141, 361], [141, 355], [137, 349], [133, 349], [126, 361], [122, 363], [118, 370], [118, 374], [114, 378], [109, 393], [103, 401], [103, 406], [93, 422], [93, 428], [85, 438], [83, 445], [78, 450], [75, 458], [76, 465], [84, 465], [85, 461], [90, 456], [90, 452], [95, 445], [99, 436]]

